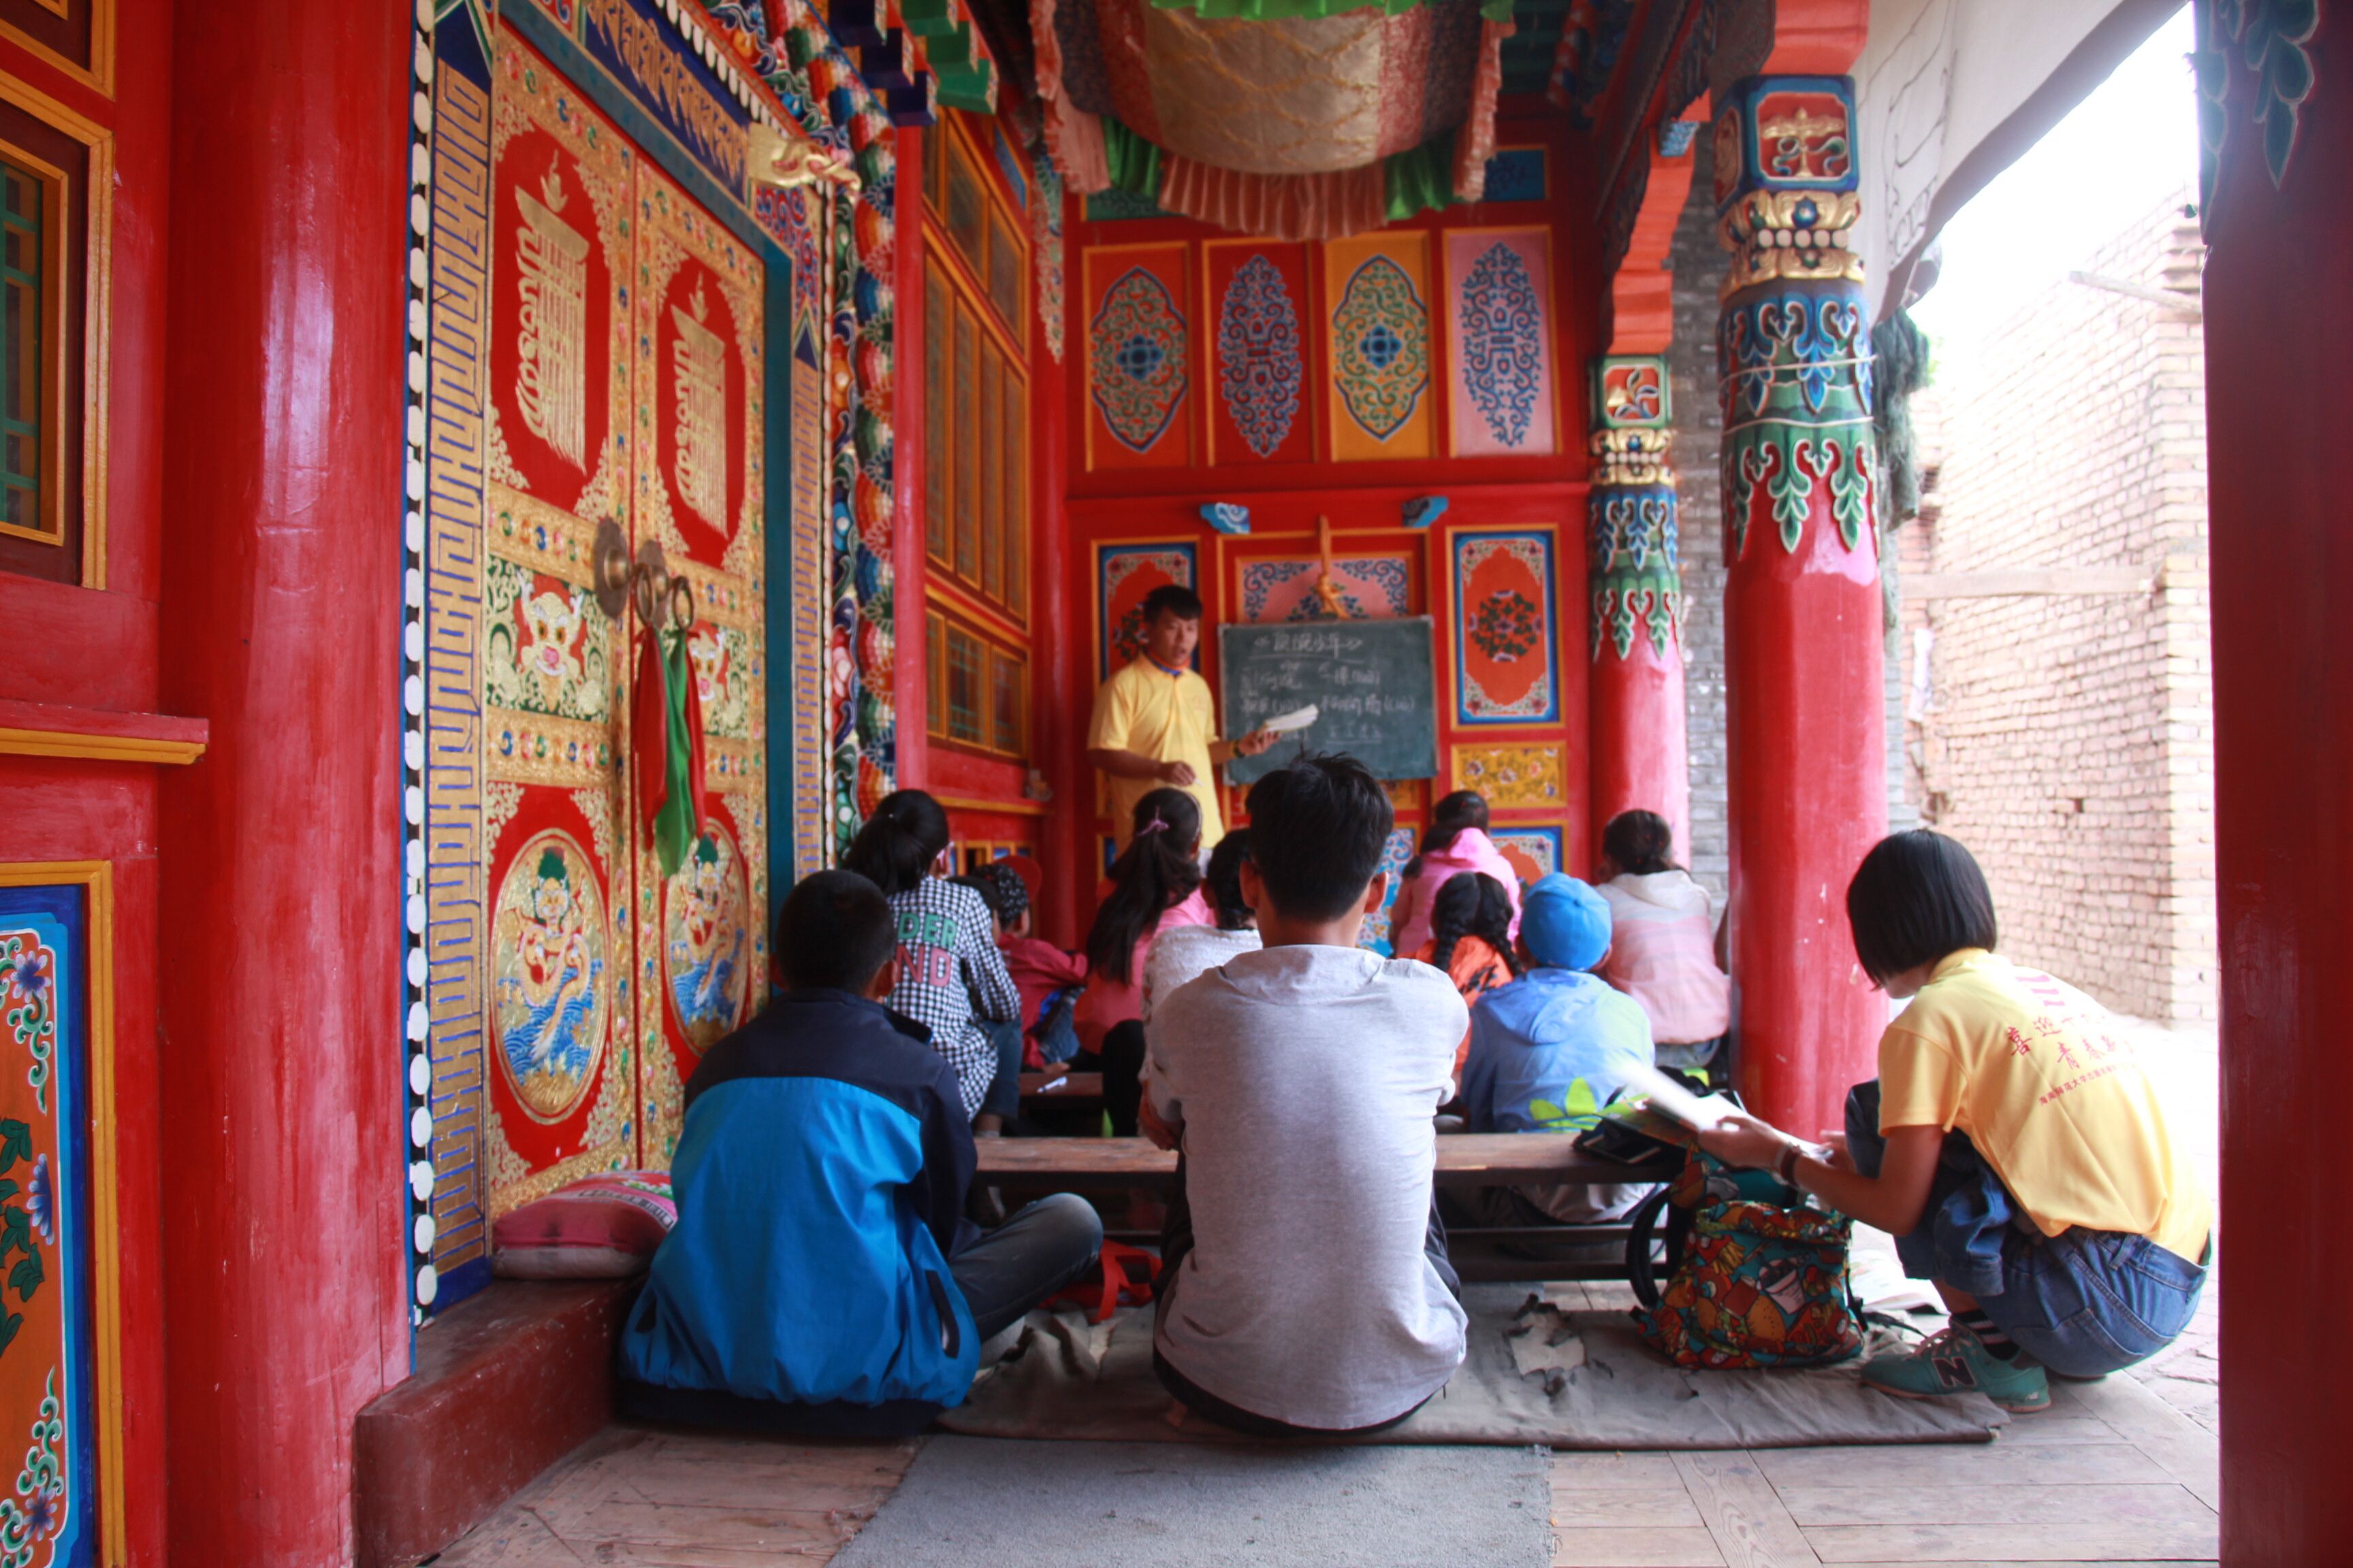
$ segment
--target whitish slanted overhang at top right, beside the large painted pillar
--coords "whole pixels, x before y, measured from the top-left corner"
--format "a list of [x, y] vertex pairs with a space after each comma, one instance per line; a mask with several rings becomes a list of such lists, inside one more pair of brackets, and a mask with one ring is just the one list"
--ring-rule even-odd
[[1873, 0], [1854, 63], [1873, 322], [1934, 284], [1920, 263], [1953, 214], [2177, 9], [2181, 0]]

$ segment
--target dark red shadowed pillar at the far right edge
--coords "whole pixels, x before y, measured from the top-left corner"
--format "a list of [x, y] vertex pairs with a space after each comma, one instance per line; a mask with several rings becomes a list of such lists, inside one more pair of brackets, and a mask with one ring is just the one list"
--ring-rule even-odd
[[[2325, 14], [2282, 186], [2231, 68], [2207, 214], [2221, 896], [2221, 1514], [2231, 1563], [2353, 1561], [2353, 33]], [[2282, 47], [2282, 45], [2273, 45]], [[2280, 113], [2278, 108], [2273, 113]]]

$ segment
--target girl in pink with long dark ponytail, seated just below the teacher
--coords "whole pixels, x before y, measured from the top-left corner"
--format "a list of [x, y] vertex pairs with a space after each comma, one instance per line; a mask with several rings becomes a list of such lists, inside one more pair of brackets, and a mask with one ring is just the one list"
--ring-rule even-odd
[[1200, 891], [1200, 806], [1184, 790], [1151, 790], [1134, 809], [1134, 837], [1111, 863], [1111, 886], [1087, 931], [1087, 990], [1071, 1023], [1080, 1058], [1104, 1070], [1104, 1110], [1120, 1138], [1136, 1133], [1144, 1070], [1144, 961], [1153, 938], [1214, 924]]

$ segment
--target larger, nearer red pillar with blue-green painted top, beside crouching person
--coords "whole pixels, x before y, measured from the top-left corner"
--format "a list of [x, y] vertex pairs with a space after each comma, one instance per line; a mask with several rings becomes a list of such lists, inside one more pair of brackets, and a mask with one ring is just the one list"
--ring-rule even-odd
[[1845, 891], [1887, 830], [1880, 581], [1847, 78], [1748, 78], [1715, 120], [1739, 1088], [1802, 1135], [1873, 1077], [1885, 999]]

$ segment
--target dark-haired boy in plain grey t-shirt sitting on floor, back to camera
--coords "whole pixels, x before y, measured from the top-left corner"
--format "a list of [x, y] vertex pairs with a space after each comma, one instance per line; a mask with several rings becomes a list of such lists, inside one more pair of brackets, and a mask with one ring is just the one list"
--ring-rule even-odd
[[1252, 785], [1242, 891], [1264, 947], [1172, 992], [1148, 1027], [1141, 1124], [1184, 1152], [1153, 1366], [1240, 1432], [1393, 1427], [1464, 1359], [1431, 1117], [1468, 1013], [1428, 964], [1355, 945], [1391, 820], [1353, 757]]

